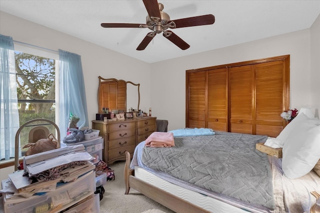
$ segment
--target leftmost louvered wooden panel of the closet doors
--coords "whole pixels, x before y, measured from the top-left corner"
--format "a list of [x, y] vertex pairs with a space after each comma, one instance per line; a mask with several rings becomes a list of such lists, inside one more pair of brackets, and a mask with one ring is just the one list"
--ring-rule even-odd
[[205, 127], [205, 71], [189, 72], [187, 76], [187, 119], [186, 127]]

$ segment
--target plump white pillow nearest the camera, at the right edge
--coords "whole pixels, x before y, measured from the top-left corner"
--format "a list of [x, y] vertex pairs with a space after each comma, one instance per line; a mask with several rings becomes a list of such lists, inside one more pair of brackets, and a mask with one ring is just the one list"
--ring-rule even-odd
[[284, 141], [282, 170], [287, 178], [304, 176], [320, 159], [320, 125], [314, 121], [309, 119], [296, 126]]

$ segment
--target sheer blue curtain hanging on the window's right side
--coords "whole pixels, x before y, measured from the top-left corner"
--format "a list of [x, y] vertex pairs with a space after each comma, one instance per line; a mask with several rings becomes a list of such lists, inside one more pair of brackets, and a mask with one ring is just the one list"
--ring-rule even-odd
[[66, 136], [69, 114], [79, 117], [77, 127], [88, 127], [81, 56], [59, 49], [59, 130]]

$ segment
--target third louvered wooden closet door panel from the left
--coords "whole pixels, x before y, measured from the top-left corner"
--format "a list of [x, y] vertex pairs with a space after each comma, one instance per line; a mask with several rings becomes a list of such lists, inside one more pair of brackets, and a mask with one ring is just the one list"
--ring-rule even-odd
[[252, 134], [253, 65], [229, 68], [229, 132]]

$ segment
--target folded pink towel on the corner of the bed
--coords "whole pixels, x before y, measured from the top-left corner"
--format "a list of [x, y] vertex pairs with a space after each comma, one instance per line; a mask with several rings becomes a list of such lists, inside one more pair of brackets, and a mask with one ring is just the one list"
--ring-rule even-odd
[[172, 132], [153, 132], [146, 140], [146, 147], [174, 147]]

